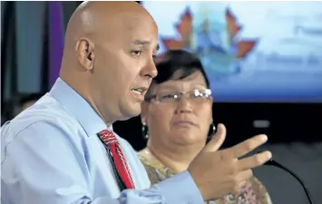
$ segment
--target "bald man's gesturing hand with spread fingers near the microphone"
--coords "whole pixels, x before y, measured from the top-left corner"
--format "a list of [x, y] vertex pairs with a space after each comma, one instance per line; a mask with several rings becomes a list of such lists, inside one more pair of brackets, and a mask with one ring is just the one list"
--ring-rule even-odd
[[218, 151], [225, 138], [226, 128], [219, 124], [216, 134], [188, 168], [204, 200], [219, 199], [229, 193], [239, 192], [242, 184], [252, 176], [251, 169], [271, 159], [271, 153], [263, 151], [239, 160], [241, 156], [268, 141], [266, 135], [258, 135], [234, 147]]

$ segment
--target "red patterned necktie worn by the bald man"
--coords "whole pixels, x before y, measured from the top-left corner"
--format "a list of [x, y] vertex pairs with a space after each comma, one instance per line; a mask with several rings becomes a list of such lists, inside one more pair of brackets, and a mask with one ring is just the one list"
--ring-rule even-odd
[[122, 181], [125, 184], [127, 189], [134, 189], [134, 182], [132, 180], [131, 172], [127, 165], [124, 154], [121, 150], [119, 141], [117, 141], [114, 133], [110, 130], [100, 131], [98, 133], [100, 139], [105, 144], [105, 147], [108, 148], [108, 151], [111, 151], [112, 159], [116, 170], [119, 173]]

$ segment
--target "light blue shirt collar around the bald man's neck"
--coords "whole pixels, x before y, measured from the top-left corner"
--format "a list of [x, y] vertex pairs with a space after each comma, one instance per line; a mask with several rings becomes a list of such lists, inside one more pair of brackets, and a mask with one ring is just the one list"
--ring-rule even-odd
[[63, 79], [57, 79], [50, 93], [76, 118], [87, 135], [96, 135], [107, 128], [112, 131], [112, 124], [107, 126], [92, 106]]

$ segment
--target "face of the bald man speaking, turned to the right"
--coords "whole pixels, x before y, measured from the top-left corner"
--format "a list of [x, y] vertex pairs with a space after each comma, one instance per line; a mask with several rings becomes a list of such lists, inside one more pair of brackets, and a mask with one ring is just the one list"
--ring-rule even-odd
[[[157, 70], [153, 55], [158, 30], [149, 15], [132, 15], [111, 23], [110, 33], [94, 45], [93, 77], [104, 118], [126, 120], [141, 113], [141, 102]], [[113, 30], [113, 31], [112, 31]], [[112, 117], [111, 117], [112, 115]]]

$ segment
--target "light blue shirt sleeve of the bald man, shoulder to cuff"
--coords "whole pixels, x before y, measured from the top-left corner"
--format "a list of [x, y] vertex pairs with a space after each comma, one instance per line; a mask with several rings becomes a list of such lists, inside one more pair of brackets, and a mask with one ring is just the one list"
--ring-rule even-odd
[[150, 189], [125, 189], [119, 198], [93, 199], [81, 139], [70, 134], [63, 122], [38, 121], [7, 143], [1, 164], [4, 203], [8, 198], [15, 204], [203, 203], [188, 171]]

